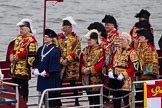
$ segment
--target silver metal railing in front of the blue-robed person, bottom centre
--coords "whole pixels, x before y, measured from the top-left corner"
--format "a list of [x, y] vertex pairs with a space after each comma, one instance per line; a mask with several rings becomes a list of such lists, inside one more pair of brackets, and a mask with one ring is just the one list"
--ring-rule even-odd
[[[63, 91], [63, 90], [74, 90], [74, 89], [89, 89], [89, 88], [100, 88], [99, 94], [93, 94], [93, 95], [78, 95], [78, 96], [61, 96], [61, 97], [56, 97], [56, 98], [49, 98], [48, 93], [49, 92], [54, 92], [54, 91]], [[94, 106], [99, 106], [100, 108], [103, 108], [103, 84], [98, 84], [98, 85], [86, 85], [86, 86], [75, 86], [75, 87], [64, 87], [64, 88], [51, 88], [51, 89], [46, 89], [43, 91], [40, 102], [39, 102], [39, 108], [41, 108], [43, 104], [43, 100], [45, 100], [45, 108], [49, 108], [49, 100], [56, 100], [56, 99], [72, 99], [72, 98], [84, 98], [84, 97], [92, 97], [92, 96], [99, 96], [100, 97], [100, 103], [96, 105], [84, 105], [84, 106], [77, 106], [77, 108], [85, 108], [85, 107], [94, 107]], [[70, 107], [70, 108], [76, 108], [76, 107]]]

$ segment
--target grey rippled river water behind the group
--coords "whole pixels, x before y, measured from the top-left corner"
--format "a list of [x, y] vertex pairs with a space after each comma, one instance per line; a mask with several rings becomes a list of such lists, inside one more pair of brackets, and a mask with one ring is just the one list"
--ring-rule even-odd
[[[36, 29], [39, 46], [42, 44], [44, 0], [0, 0], [0, 60], [5, 59], [8, 43], [19, 33], [16, 23], [30, 18]], [[162, 0], [64, 0], [62, 3], [47, 3], [47, 28], [61, 32], [61, 19], [73, 16], [78, 25], [74, 31], [82, 38], [87, 27], [101, 21], [105, 14], [113, 15], [119, 32], [129, 32], [137, 22], [134, 17], [141, 9], [151, 13], [150, 23], [154, 28], [155, 44], [162, 35]], [[82, 47], [86, 45], [83, 39]], [[34, 90], [33, 90], [34, 91]]]

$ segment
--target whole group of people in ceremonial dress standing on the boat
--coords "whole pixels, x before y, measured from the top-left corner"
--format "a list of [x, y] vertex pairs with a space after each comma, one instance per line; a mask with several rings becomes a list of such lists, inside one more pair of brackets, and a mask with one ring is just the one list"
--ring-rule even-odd
[[[20, 34], [9, 47], [12, 82], [19, 84], [24, 100], [28, 101], [28, 81], [38, 76], [37, 91], [42, 93], [48, 88], [60, 88], [62, 81], [68, 79], [71, 86], [82, 78], [83, 85], [104, 84], [110, 88], [113, 97], [122, 97], [127, 108], [131, 107], [132, 82], [157, 79], [158, 55], [154, 46], [153, 29], [149, 23], [150, 13], [142, 9], [136, 14], [139, 21], [130, 33], [118, 32], [116, 19], [105, 15], [102, 23], [93, 22], [84, 36], [87, 46], [81, 50], [81, 39], [73, 32], [76, 25], [73, 17], [62, 20], [62, 33], [56, 34], [45, 29], [43, 45], [38, 48], [33, 35], [31, 20], [23, 19], [17, 26]], [[107, 80], [108, 79], [108, 80]], [[136, 87], [143, 89], [141, 85]], [[78, 95], [77, 90], [73, 90]], [[99, 88], [86, 89], [86, 93], [99, 93]], [[104, 94], [109, 95], [105, 89]], [[59, 97], [61, 92], [50, 92], [49, 97]], [[136, 94], [143, 99], [142, 93]], [[99, 96], [88, 97], [89, 104], [99, 104]], [[108, 99], [104, 99], [108, 102]], [[113, 99], [114, 108], [120, 108], [121, 99]], [[50, 108], [60, 108], [61, 100], [50, 100]], [[79, 106], [75, 98], [75, 106]], [[94, 108], [99, 108], [95, 106]]]

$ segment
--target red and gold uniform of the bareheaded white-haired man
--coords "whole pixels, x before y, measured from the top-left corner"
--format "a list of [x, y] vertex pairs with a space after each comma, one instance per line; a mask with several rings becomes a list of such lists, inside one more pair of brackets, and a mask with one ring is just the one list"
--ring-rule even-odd
[[135, 80], [134, 73], [141, 70], [141, 64], [135, 49], [126, 46], [117, 49], [109, 68], [109, 70], [114, 69], [116, 75], [121, 73], [124, 75], [125, 80], [121, 89], [131, 91], [132, 81]]

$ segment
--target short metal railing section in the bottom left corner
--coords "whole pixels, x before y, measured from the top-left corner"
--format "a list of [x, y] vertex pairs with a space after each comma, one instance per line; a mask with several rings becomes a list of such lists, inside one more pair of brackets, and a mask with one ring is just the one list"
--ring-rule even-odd
[[14, 99], [9, 99], [9, 100], [4, 100], [4, 102], [2, 104], [9, 104], [9, 103], [14, 103], [15, 104], [15, 108], [19, 108], [19, 90], [18, 90], [18, 84], [15, 84], [15, 83], [10, 83], [10, 82], [4, 82], [3, 81], [3, 86], [12, 86], [15, 88], [15, 92], [12, 92], [12, 91], [8, 91], [7, 88], [3, 88], [3, 89], [6, 89], [6, 90], [2, 90], [0, 91], [1, 93], [4, 93], [4, 94], [8, 94], [8, 95], [14, 95]]

